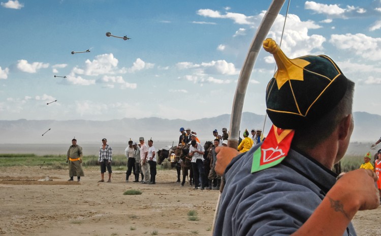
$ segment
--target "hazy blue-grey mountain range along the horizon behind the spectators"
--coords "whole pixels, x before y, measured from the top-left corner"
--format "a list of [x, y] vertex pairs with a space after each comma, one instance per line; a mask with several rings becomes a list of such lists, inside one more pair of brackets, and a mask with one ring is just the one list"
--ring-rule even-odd
[[[355, 130], [351, 141], [375, 141], [381, 136], [381, 116], [366, 112], [355, 112]], [[263, 129], [265, 115], [251, 112], [242, 114], [241, 132], [245, 128]], [[54, 120], [17, 120], [0, 121], [0, 141], [2, 143], [67, 143], [74, 136], [81, 143], [99, 142], [106, 137], [110, 142], [126, 142], [130, 138], [137, 140], [143, 136], [157, 141], [178, 141], [179, 128], [190, 128], [197, 132], [202, 140], [212, 139], [212, 131], [226, 127], [229, 129], [230, 114], [193, 121], [168, 120], [157, 117], [143, 119], [121, 119], [111, 121], [54, 121]], [[266, 121], [265, 133], [271, 127]], [[48, 131], [44, 136], [42, 134]], [[311, 134], [319, 135], [319, 134]]]

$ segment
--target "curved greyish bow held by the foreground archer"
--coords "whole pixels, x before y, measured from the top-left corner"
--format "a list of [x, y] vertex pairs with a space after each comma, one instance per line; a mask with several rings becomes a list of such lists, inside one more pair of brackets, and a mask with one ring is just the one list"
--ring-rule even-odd
[[[267, 34], [270, 31], [272, 24], [274, 23], [276, 17], [279, 14], [285, 0], [273, 0], [269, 9], [267, 10], [265, 16], [263, 17], [261, 24], [258, 27], [256, 35], [251, 41], [249, 51], [246, 55], [243, 67], [239, 74], [237, 81], [236, 93], [234, 95], [232, 114], [230, 118], [230, 134], [228, 140], [228, 146], [237, 149], [238, 138], [239, 138], [239, 128], [241, 125], [242, 108], [243, 102], [245, 100], [245, 94], [247, 89], [247, 84], [249, 83], [252, 68], [257, 60], [259, 51], [262, 48], [263, 41], [265, 40]], [[220, 192], [217, 200], [216, 210], [214, 213], [214, 219], [212, 224], [212, 235], [214, 233], [215, 221], [219, 212], [219, 201], [221, 198], [221, 193], [224, 190], [224, 184], [221, 183]]]

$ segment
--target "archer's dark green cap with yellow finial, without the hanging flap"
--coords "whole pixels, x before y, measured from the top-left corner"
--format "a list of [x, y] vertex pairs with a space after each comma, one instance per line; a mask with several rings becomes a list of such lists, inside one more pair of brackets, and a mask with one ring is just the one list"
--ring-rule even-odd
[[278, 70], [266, 89], [267, 114], [282, 129], [298, 129], [331, 111], [343, 98], [347, 78], [326, 55], [288, 58], [272, 39], [263, 47]]

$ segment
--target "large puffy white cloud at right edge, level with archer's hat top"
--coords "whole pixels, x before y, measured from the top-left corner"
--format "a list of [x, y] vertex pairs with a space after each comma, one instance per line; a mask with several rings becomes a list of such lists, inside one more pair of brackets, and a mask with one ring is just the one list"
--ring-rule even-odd
[[347, 50], [368, 60], [381, 60], [381, 38], [364, 34], [331, 35], [329, 42], [338, 49]]

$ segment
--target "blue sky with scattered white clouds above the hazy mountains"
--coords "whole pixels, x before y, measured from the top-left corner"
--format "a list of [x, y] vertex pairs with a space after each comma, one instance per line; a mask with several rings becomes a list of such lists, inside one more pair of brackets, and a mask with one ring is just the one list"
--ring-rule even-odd
[[[0, 119], [99, 121], [231, 113], [240, 69], [270, 4], [0, 2]], [[287, 4], [269, 33], [278, 43]], [[379, 0], [291, 1], [281, 47], [292, 58], [332, 57], [356, 82], [354, 111], [381, 114], [380, 16]], [[243, 111], [265, 114], [274, 66], [262, 50]]]

